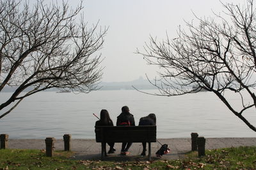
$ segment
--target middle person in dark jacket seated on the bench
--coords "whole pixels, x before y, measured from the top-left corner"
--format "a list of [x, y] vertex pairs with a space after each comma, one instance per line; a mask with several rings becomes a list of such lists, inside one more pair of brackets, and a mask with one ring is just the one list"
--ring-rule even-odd
[[[130, 113], [130, 110], [127, 106], [122, 107], [122, 113], [117, 117], [116, 120], [117, 126], [133, 126], [135, 125], [134, 117]], [[131, 136], [132, 138], [132, 136]], [[131, 147], [132, 143], [122, 143], [121, 155], [128, 155], [129, 148]]]

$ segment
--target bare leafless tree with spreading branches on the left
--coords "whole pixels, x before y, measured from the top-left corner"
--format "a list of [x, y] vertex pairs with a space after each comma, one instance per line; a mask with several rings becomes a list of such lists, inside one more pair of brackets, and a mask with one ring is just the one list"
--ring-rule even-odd
[[39, 0], [29, 8], [28, 3], [0, 0], [0, 92], [17, 86], [0, 104], [0, 111], [5, 110], [0, 118], [24, 97], [52, 87], [97, 89], [102, 76], [98, 51], [107, 29], [88, 28], [82, 9], [82, 1], [72, 9], [64, 2], [47, 5]]

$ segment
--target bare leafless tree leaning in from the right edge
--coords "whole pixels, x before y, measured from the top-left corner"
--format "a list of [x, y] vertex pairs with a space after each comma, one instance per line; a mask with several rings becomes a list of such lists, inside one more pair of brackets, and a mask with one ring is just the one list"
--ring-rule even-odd
[[[160, 78], [150, 81], [160, 96], [179, 96], [207, 90], [218, 96], [227, 108], [256, 131], [243, 115], [255, 108], [256, 97], [256, 11], [253, 0], [243, 5], [223, 4], [225, 11], [214, 17], [186, 22], [177, 38], [157, 42], [150, 37], [142, 54], [148, 64], [159, 66]], [[157, 83], [160, 82], [160, 83]], [[196, 87], [196, 88], [192, 88]], [[230, 91], [241, 96], [241, 107], [225, 96]], [[250, 96], [246, 101], [244, 96]]]

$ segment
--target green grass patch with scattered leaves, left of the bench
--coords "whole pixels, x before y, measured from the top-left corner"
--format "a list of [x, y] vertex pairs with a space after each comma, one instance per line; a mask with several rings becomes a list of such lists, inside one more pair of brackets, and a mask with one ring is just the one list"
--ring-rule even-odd
[[54, 152], [54, 157], [46, 157], [44, 150], [0, 150], [0, 169], [72, 169], [80, 166], [69, 160], [72, 152]]

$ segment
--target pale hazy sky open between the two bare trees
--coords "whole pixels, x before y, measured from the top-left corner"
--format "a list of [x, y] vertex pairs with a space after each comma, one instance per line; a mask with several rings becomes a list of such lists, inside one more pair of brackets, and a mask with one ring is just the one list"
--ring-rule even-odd
[[[74, 5], [79, 0], [70, 0]], [[243, 3], [242, 0], [223, 0], [223, 3]], [[88, 24], [108, 26], [102, 56], [106, 57], [102, 81], [131, 81], [156, 76], [157, 67], [148, 66], [136, 48], [143, 50], [149, 35], [163, 39], [168, 33], [175, 38], [179, 25], [198, 17], [211, 16], [212, 10], [223, 10], [218, 0], [86, 0], [83, 2]]]

